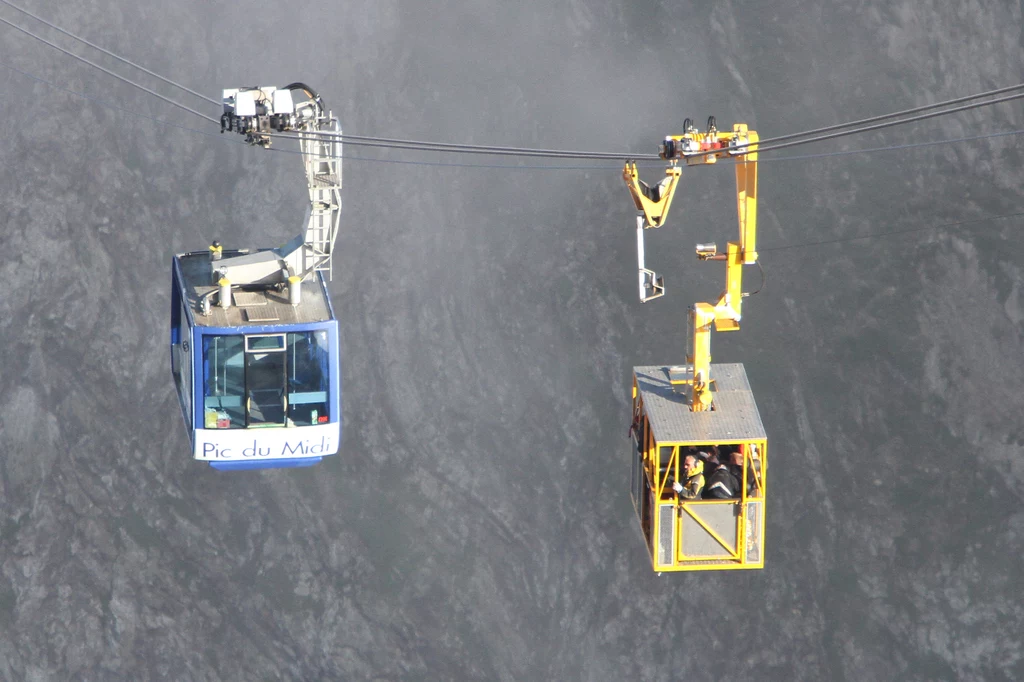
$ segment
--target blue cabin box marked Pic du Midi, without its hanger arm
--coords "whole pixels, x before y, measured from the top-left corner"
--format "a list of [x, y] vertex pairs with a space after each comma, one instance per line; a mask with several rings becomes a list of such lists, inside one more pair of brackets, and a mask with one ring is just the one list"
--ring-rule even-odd
[[[254, 255], [263, 253], [276, 250]], [[211, 266], [223, 261], [210, 254], [173, 261], [171, 371], [193, 457], [232, 470], [307, 466], [334, 455], [341, 361], [323, 275], [289, 288], [239, 287], [213, 305], [224, 285], [211, 283]], [[300, 302], [292, 305], [296, 287]]]

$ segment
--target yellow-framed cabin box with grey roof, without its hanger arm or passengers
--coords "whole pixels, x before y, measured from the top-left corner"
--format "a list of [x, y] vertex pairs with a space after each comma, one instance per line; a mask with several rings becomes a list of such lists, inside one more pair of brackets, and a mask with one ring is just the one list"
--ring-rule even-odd
[[[633, 368], [631, 492], [651, 566], [658, 572], [762, 568], [768, 439], [746, 373], [742, 365], [713, 365], [714, 409], [694, 412], [685, 385], [673, 383], [682, 370]], [[673, 489], [686, 478], [687, 455], [708, 467], [705, 456], [715, 450], [738, 483], [730, 491], [735, 497], [688, 500]], [[702, 471], [701, 494], [713, 473]]]

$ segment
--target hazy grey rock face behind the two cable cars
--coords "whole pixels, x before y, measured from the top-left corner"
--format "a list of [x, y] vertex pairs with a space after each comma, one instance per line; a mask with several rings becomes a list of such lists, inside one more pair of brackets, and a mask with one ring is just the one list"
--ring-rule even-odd
[[[768, 137], [1022, 73], [1005, 1], [23, 1], [212, 97], [301, 80], [346, 132], [453, 142], [649, 154], [687, 116]], [[684, 171], [641, 306], [613, 163], [346, 161], [342, 452], [216, 473], [170, 379], [170, 259], [302, 229], [299, 157], [0, 40], [134, 113], [0, 69], [0, 678], [1024, 678], [1022, 219], [950, 225], [1024, 210], [1019, 138], [781, 160], [1017, 130], [1019, 102], [765, 155], [767, 286], [713, 352], [770, 438], [766, 567], [658, 578], [631, 368], [681, 361], [722, 287], [692, 247], [735, 232], [727, 165]]]

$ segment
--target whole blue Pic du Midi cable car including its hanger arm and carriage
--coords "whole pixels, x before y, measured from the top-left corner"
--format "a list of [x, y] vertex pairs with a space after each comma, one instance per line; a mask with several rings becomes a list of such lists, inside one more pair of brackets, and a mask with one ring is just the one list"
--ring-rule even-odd
[[341, 444], [338, 321], [324, 276], [341, 212], [341, 130], [302, 83], [224, 90], [221, 132], [253, 145], [299, 134], [308, 222], [276, 249], [214, 242], [174, 256], [171, 374], [195, 459], [221, 470], [308, 466]]

